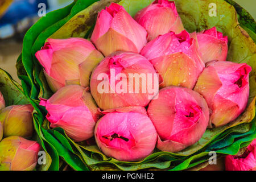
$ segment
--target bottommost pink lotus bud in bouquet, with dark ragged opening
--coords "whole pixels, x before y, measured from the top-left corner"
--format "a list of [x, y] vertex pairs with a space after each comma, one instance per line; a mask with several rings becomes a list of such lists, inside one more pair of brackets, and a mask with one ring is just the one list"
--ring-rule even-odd
[[105, 155], [136, 161], [154, 151], [157, 134], [143, 107], [129, 107], [104, 115], [96, 124], [95, 138]]

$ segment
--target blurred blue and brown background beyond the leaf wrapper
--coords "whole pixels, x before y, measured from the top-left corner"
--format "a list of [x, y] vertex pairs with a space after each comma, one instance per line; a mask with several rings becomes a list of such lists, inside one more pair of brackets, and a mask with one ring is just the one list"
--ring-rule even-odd
[[[256, 18], [256, 0], [233, 0]], [[44, 13], [67, 6], [73, 0], [0, 0], [0, 68], [9, 72], [14, 80], [16, 59], [22, 51], [26, 31]]]

